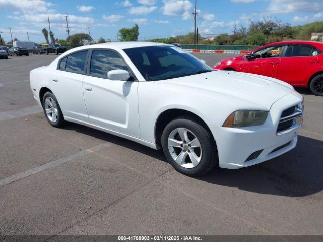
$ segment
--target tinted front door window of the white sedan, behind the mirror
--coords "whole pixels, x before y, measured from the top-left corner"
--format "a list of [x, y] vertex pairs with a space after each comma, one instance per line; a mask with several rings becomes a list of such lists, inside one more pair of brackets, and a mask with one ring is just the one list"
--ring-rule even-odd
[[107, 78], [107, 72], [128, 67], [118, 53], [109, 50], [93, 50], [90, 75]]

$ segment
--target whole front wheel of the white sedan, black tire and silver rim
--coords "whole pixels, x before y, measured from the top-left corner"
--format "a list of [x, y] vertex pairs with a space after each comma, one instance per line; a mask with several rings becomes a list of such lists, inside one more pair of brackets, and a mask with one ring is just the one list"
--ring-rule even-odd
[[190, 117], [173, 119], [163, 131], [161, 146], [169, 163], [185, 175], [204, 175], [218, 163], [210, 132]]

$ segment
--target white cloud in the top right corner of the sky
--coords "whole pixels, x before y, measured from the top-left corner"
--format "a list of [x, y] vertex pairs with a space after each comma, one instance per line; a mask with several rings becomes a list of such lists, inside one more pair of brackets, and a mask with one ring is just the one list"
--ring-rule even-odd
[[322, 1], [271, 0], [267, 10], [275, 14], [313, 12], [323, 8]]

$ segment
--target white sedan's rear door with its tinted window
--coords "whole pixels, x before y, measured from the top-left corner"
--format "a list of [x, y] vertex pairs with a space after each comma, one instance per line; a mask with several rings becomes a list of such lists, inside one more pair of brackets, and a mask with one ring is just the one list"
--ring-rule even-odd
[[88, 50], [74, 52], [58, 62], [51, 74], [51, 90], [65, 118], [89, 123], [82, 81], [86, 73]]

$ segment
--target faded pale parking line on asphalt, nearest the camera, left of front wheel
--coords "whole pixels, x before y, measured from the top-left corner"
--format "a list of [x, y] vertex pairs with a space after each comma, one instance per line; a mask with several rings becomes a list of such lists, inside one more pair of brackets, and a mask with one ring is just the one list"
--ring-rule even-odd
[[98, 150], [100, 150], [102, 148], [105, 148], [107, 146], [110, 146], [110, 144], [106, 144], [106, 143], [100, 144], [100, 145], [94, 146], [94, 147], [92, 147], [90, 149], [86, 149], [86, 150], [82, 150], [80, 152], [77, 152], [77, 153], [75, 153], [73, 155], [69, 155], [69, 156], [63, 157], [61, 159], [54, 160], [54, 161], [51, 161], [51, 162], [46, 163], [44, 165], [38, 166], [36, 168], [30, 169], [30, 170], [26, 170], [26, 171], [21, 172], [19, 174], [15, 174], [15, 175], [9, 176], [7, 178], [4, 178], [4, 179], [0, 180], [0, 187], [5, 186], [5, 185], [8, 185], [10, 183], [13, 183], [14, 181], [17, 181], [17, 180], [26, 178], [26, 177], [28, 177], [30, 175], [39, 173], [41, 171], [44, 171], [44, 170], [47, 170], [47, 169], [56, 167], [58, 165], [64, 164], [64, 163], [66, 163], [68, 161], [71, 161], [71, 160], [73, 160], [75, 158], [79, 158], [79, 157], [82, 157], [82, 156], [91, 154], [91, 153], [93, 153], [95, 151], [98, 151]]

